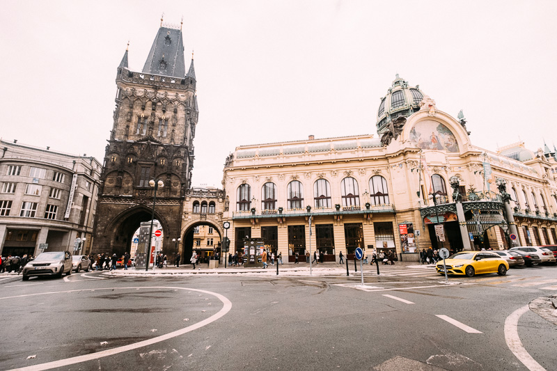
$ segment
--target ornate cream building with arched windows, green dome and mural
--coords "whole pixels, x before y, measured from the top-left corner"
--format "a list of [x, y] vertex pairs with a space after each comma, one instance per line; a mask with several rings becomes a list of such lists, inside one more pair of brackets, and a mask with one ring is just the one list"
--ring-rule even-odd
[[290, 262], [310, 246], [326, 260], [356, 247], [418, 260], [428, 246], [557, 244], [557, 160], [547, 145], [478, 148], [462, 111], [440, 111], [398, 75], [377, 132], [237, 147], [223, 171], [231, 252], [244, 237], [264, 238]]

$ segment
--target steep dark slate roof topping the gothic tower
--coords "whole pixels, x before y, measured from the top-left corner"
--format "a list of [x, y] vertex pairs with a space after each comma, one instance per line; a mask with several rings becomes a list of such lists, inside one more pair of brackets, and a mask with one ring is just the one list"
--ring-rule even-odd
[[163, 76], [185, 77], [182, 31], [161, 27], [152, 43], [143, 72]]

